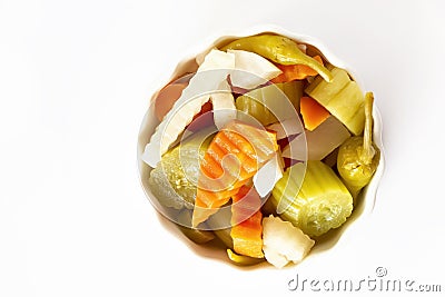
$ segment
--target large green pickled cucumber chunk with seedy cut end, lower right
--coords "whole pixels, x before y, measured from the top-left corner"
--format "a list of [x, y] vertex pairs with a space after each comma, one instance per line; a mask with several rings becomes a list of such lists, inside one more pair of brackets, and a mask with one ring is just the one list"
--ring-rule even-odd
[[322, 161], [307, 161], [306, 171], [304, 164], [289, 167], [269, 199], [283, 219], [310, 237], [339, 227], [353, 211], [348, 189]]

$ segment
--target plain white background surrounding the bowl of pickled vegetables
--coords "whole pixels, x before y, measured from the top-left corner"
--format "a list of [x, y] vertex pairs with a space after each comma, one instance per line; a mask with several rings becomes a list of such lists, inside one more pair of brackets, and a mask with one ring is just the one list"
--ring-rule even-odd
[[[296, 295], [296, 274], [359, 279], [378, 266], [445, 290], [444, 12], [441, 1], [0, 0], [0, 296]], [[186, 52], [264, 23], [323, 40], [374, 91], [386, 170], [347, 245], [245, 271], [160, 225], [136, 142]]]

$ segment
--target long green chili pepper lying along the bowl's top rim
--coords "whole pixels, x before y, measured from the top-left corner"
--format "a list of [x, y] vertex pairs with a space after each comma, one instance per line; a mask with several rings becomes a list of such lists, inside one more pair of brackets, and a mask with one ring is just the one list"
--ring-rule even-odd
[[237, 39], [221, 50], [246, 50], [280, 65], [305, 65], [317, 71], [326, 81], [332, 81], [330, 71], [314, 58], [304, 53], [297, 43], [284, 36], [258, 34]]

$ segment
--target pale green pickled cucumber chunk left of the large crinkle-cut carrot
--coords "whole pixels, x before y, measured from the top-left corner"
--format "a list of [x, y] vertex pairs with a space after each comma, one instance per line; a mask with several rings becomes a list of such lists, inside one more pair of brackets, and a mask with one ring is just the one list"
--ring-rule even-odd
[[186, 141], [166, 152], [150, 172], [148, 184], [159, 204], [175, 209], [192, 209], [199, 161], [210, 143], [208, 131], [190, 136]]

